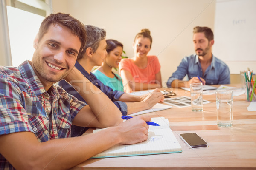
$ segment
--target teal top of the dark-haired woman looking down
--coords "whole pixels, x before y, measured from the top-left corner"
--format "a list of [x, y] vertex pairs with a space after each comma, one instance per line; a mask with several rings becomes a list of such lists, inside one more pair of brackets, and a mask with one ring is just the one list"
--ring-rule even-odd
[[[115, 74], [114, 78], [110, 78], [100, 72], [99, 70], [94, 70], [93, 74], [99, 79], [104, 85], [111, 87], [114, 91], [124, 91], [124, 86], [122, 84], [122, 79], [118, 74]], [[118, 77], [118, 78], [117, 78]]]

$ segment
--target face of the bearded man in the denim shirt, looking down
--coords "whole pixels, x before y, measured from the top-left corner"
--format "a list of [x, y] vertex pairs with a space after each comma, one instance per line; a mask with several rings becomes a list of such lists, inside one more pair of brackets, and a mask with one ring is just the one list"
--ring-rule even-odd
[[195, 33], [193, 35], [193, 42], [194, 42], [194, 48], [195, 48], [195, 53], [198, 56], [204, 56], [209, 53], [210, 48], [212, 47], [213, 40], [210, 42], [208, 39], [204, 36], [203, 32]]

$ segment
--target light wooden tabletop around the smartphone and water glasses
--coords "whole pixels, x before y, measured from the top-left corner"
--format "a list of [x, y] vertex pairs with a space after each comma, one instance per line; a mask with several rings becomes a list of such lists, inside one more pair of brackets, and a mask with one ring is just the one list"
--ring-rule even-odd
[[[190, 95], [176, 90], [177, 96]], [[88, 159], [73, 170], [256, 170], [256, 112], [247, 111], [250, 102], [245, 101], [245, 94], [233, 98], [233, 127], [229, 128], [216, 124], [215, 95], [203, 98], [212, 101], [203, 106], [203, 112], [173, 107], [147, 113], [169, 119], [182, 153]], [[209, 147], [189, 149], [178, 135], [190, 132], [201, 136]]]

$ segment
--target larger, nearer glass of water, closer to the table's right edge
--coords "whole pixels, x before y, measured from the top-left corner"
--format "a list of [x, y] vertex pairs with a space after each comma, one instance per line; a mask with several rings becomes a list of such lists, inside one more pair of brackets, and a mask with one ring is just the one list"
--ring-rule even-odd
[[233, 92], [228, 90], [216, 91], [217, 125], [231, 127], [233, 121]]

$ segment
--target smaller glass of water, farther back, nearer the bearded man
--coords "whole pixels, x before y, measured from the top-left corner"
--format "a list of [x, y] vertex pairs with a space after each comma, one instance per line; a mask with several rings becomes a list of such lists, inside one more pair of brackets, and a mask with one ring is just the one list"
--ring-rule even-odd
[[192, 111], [203, 111], [203, 84], [190, 84], [190, 94]]

